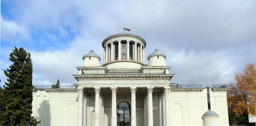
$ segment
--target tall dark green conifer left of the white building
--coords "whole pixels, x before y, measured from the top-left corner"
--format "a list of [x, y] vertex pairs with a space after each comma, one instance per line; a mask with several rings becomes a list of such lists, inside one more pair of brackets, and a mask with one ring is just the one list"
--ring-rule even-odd
[[9, 59], [12, 65], [4, 70], [8, 82], [1, 90], [1, 101], [4, 101], [1, 125], [37, 125], [40, 121], [31, 116], [33, 70], [30, 54], [15, 47]]

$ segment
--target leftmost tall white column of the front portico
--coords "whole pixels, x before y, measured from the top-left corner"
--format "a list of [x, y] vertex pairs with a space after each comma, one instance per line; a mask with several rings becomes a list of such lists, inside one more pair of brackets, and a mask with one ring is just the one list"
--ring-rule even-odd
[[79, 87], [77, 90], [79, 92], [79, 115], [77, 116], [77, 124], [78, 126], [83, 126], [83, 87]]

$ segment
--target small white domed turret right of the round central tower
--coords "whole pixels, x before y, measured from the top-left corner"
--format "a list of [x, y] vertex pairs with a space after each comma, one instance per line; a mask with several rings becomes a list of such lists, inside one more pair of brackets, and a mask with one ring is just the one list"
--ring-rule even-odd
[[147, 59], [149, 60], [150, 66], [166, 66], [165, 54], [162, 54], [157, 49], [152, 54], [150, 54], [150, 56], [148, 56]]

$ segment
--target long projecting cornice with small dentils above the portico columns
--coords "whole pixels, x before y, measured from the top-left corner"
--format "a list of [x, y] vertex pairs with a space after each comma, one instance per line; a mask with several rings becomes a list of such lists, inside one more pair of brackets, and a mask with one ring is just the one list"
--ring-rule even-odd
[[174, 74], [73, 75], [76, 80], [171, 80]]

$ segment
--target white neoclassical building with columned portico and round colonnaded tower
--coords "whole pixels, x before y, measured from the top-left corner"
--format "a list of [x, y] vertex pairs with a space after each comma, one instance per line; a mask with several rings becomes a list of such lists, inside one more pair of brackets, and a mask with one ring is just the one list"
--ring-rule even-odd
[[138, 35], [107, 37], [102, 42], [103, 64], [94, 51], [85, 54], [79, 74], [73, 75], [75, 87], [38, 86], [33, 116], [40, 125], [229, 125], [228, 89], [173, 86], [165, 54], [155, 50], [145, 57], [145, 47]]

